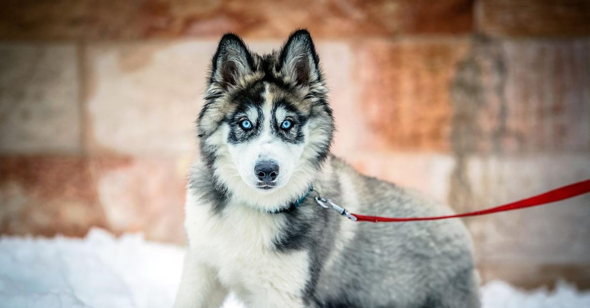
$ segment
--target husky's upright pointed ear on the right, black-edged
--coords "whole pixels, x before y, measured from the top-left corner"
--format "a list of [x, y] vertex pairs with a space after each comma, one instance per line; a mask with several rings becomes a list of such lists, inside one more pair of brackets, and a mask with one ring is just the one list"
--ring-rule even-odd
[[280, 71], [298, 85], [320, 81], [320, 59], [313, 46], [312, 36], [307, 30], [291, 34], [280, 54]]

